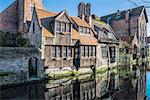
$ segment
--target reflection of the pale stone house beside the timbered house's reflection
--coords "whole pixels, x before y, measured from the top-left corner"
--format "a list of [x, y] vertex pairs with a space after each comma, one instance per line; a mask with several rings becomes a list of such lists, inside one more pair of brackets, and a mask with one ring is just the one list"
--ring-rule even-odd
[[98, 74], [96, 77], [96, 97], [107, 98], [119, 87], [119, 78], [116, 70]]

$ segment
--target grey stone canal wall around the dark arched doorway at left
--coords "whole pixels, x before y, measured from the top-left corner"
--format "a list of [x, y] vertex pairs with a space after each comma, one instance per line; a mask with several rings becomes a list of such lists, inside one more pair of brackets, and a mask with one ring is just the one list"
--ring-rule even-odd
[[[37, 58], [37, 78], [43, 78], [44, 76], [44, 63], [40, 57], [40, 52], [35, 48], [24, 47], [0, 47], [0, 71], [13, 73], [5, 76], [1, 76], [1, 83], [10, 83], [10, 80], [29, 81], [29, 60], [31, 58]], [[14, 78], [12, 77], [14, 76]], [[9, 79], [9, 80], [8, 80]], [[13, 83], [13, 81], [12, 81]]]

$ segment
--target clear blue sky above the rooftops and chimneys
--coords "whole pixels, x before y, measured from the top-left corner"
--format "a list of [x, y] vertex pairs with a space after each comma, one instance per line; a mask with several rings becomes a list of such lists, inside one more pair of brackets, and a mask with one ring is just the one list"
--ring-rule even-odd
[[[9, 6], [15, 0], [0, 0], [0, 12]], [[43, 0], [44, 6], [47, 10], [53, 12], [60, 12], [66, 10], [69, 15], [77, 16], [78, 4], [80, 2], [91, 3], [91, 13], [98, 16], [114, 13], [117, 10], [125, 10], [135, 7], [127, 0]], [[150, 36], [150, 23], [148, 25], [148, 32]]]

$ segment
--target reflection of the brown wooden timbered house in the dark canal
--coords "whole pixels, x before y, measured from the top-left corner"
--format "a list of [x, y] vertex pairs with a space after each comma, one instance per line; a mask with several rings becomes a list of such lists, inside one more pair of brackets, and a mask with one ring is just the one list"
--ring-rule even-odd
[[93, 100], [96, 97], [95, 85], [95, 79], [91, 77], [46, 84], [45, 98], [46, 100]]

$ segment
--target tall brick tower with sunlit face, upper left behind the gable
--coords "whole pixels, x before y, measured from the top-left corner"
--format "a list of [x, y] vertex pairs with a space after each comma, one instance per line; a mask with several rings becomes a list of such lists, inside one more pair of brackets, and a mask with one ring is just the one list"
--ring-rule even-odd
[[18, 4], [18, 31], [24, 32], [24, 23], [31, 21], [34, 6], [44, 9], [43, 0], [17, 0]]

